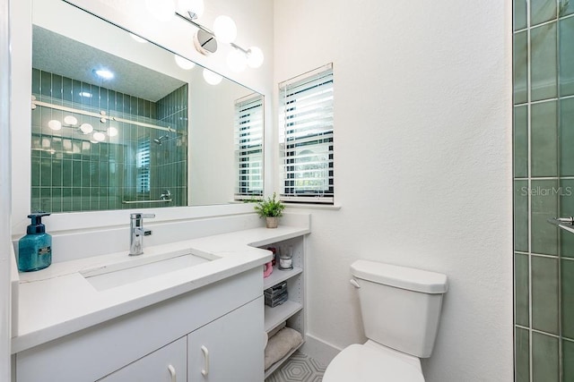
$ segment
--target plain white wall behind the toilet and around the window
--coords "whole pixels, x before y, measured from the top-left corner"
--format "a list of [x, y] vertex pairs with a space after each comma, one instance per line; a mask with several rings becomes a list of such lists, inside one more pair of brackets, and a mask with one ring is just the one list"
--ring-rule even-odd
[[275, 0], [274, 75], [335, 72], [335, 203], [313, 210], [309, 333], [361, 342], [355, 259], [448, 275], [429, 382], [512, 380], [509, 2]]

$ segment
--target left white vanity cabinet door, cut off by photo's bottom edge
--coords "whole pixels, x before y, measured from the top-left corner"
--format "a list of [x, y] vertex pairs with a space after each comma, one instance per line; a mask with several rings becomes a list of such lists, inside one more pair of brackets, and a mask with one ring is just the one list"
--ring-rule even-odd
[[101, 382], [186, 382], [187, 338], [179, 338], [155, 352], [130, 363]]

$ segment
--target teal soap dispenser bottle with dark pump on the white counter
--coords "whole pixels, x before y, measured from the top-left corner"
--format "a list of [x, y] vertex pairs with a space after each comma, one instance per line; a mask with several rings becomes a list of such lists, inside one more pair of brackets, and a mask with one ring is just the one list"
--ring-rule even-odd
[[18, 270], [32, 272], [44, 269], [52, 264], [52, 236], [46, 233], [42, 216], [50, 214], [31, 214], [31, 224], [26, 235], [18, 242]]

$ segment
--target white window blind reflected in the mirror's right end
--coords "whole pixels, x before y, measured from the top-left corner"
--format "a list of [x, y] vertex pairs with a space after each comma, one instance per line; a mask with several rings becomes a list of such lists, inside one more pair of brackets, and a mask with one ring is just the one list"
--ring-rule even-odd
[[263, 195], [263, 96], [235, 101], [235, 199]]

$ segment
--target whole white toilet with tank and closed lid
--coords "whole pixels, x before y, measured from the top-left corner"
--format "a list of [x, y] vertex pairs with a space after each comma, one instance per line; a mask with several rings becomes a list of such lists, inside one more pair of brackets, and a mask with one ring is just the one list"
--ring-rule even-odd
[[424, 382], [420, 359], [431, 357], [447, 276], [369, 260], [351, 274], [368, 341], [338, 353], [323, 382]]

